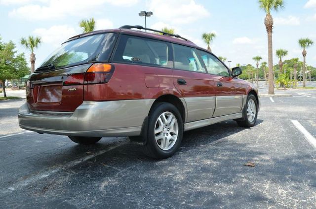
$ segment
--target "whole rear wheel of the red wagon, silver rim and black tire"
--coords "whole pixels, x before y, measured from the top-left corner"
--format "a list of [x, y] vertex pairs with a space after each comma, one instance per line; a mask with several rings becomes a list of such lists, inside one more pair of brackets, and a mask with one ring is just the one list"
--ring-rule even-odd
[[143, 152], [156, 159], [168, 158], [179, 148], [182, 136], [183, 120], [179, 110], [170, 103], [157, 103], [149, 113], [148, 137]]

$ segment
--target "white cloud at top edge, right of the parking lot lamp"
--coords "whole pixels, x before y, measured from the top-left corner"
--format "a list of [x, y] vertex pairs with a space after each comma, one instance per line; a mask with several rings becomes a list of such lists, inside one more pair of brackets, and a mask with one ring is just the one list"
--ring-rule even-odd
[[188, 24], [209, 16], [194, 0], [151, 0], [148, 7], [158, 19], [171, 24]]

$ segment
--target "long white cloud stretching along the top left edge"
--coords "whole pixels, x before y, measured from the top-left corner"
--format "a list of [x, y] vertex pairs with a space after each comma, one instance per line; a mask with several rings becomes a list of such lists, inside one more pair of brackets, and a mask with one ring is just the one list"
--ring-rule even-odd
[[[16, 0], [17, 1], [17, 0]], [[25, 0], [27, 1], [27, 0]], [[9, 12], [9, 16], [27, 20], [48, 20], [66, 16], [80, 16], [95, 12], [104, 4], [131, 6], [138, 0], [49, 0], [42, 4], [26, 4]]]

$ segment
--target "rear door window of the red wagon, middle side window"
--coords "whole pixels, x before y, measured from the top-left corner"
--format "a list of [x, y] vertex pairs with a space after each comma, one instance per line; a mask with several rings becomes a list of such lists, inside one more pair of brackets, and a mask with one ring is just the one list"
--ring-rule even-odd
[[175, 69], [206, 72], [200, 63], [194, 48], [173, 44], [173, 50]]

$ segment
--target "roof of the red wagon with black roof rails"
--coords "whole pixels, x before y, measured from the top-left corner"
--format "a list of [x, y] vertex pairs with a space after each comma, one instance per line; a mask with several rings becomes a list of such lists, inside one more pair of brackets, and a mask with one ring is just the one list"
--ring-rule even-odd
[[181, 45], [186, 45], [186, 46], [206, 50], [204, 48], [197, 46], [195, 43], [193, 43], [190, 40], [184, 40], [181, 38], [176, 38], [176, 37], [172, 37], [172, 36], [168, 36], [168, 35], [159, 35], [159, 34], [154, 34], [154, 33], [150, 33], [150, 32], [144, 32], [144, 31], [140, 31], [140, 30], [131, 30], [131, 29], [110, 29], [110, 30], [93, 31], [93, 32], [89, 32], [89, 33], [75, 35], [75, 36], [69, 38], [65, 42], [68, 42], [68, 41], [71, 41], [71, 40], [74, 40], [74, 39], [77, 39], [80, 37], [84, 37], [84, 36], [103, 34], [103, 33], [122, 33], [122, 34], [126, 34], [126, 35], [135, 35], [135, 36], [153, 38], [156, 40], [167, 41], [167, 42], [172, 42], [172, 43], [176, 43], [176, 44], [181, 44]]

